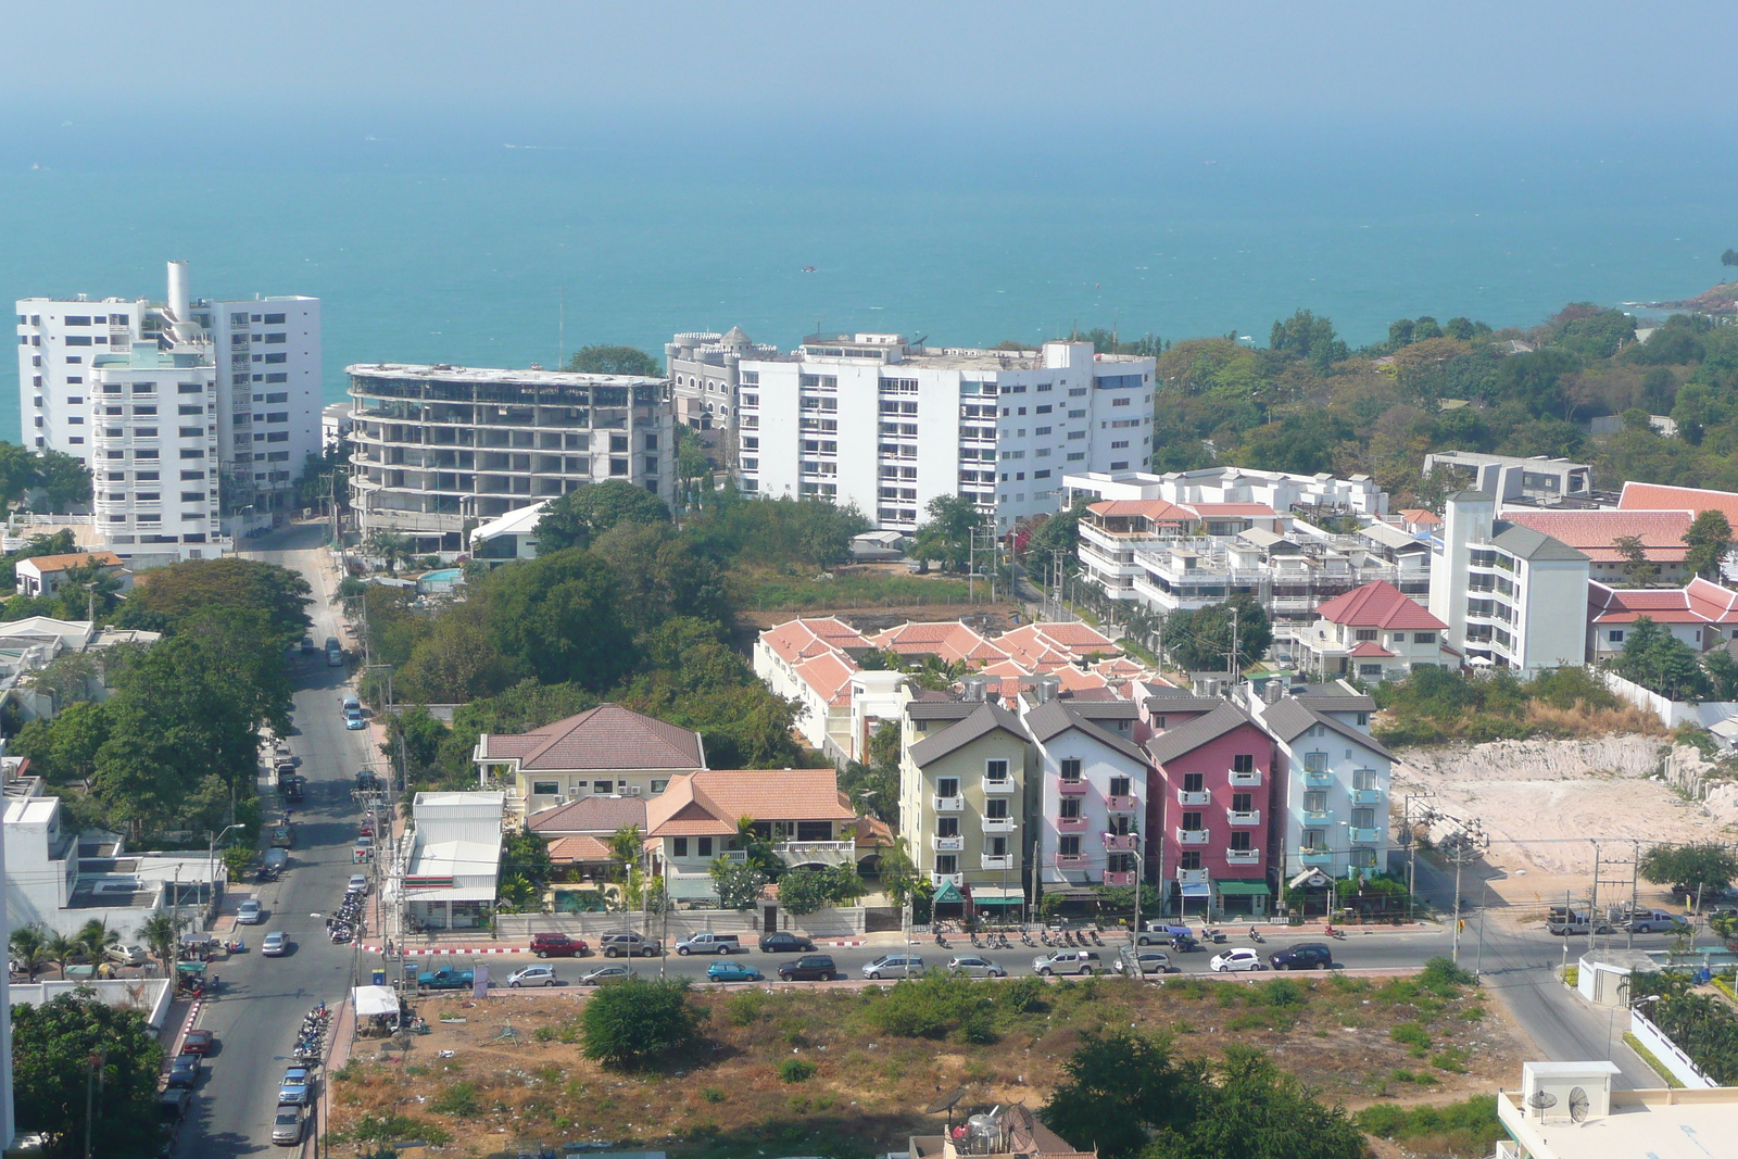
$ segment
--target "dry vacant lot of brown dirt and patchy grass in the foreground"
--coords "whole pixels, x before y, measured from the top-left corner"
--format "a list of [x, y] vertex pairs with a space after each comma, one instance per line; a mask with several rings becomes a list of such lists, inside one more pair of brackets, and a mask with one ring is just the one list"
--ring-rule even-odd
[[[1083, 1034], [1128, 1029], [1170, 1034], [1184, 1056], [1265, 1048], [1323, 1098], [1354, 1109], [1488, 1093], [1524, 1056], [1500, 1006], [1476, 987], [1413, 978], [1022, 980], [977, 983], [973, 996], [991, 1011], [973, 1034], [987, 1029], [987, 1043], [959, 1041], [961, 1029], [888, 1034], [881, 987], [697, 990], [704, 1046], [634, 1077], [580, 1058], [579, 994], [428, 999], [421, 1013], [433, 1034], [384, 1056], [358, 1043], [334, 1076], [334, 1140], [428, 1140], [443, 1156], [580, 1140], [702, 1159], [885, 1154], [935, 1129], [940, 1121], [921, 1112], [939, 1091], [966, 1086], [972, 1103], [1038, 1109]], [[813, 1076], [784, 1081], [787, 1060], [813, 1063]]]

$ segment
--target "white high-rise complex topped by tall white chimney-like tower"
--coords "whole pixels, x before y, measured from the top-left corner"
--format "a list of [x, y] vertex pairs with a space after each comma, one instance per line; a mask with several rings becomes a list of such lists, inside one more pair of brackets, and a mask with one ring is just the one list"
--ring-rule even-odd
[[[203, 481], [212, 490], [222, 481], [226, 513], [247, 520], [285, 507], [292, 502], [295, 478], [308, 455], [320, 452], [320, 299], [193, 299], [186, 262], [169, 262], [169, 294], [162, 302], [143, 297], [92, 302], [87, 295], [21, 299], [17, 335], [19, 412], [26, 445], [73, 455], [92, 473], [108, 471], [111, 460], [111, 455], [97, 454], [97, 427], [122, 427], [122, 441], [127, 443], [134, 427], [163, 431], [169, 429], [167, 419], [191, 417], [186, 407], [193, 400], [160, 400], [156, 407], [174, 410], [151, 410], [153, 403], [146, 400], [136, 407], [113, 398], [116, 393], [127, 396], [132, 382], [149, 382], [155, 372], [195, 368], [189, 354], [202, 354], [200, 377], [212, 394], [200, 400], [209, 405], [203, 426], [216, 440]], [[172, 361], [165, 365], [153, 356], [170, 356]], [[96, 389], [99, 360], [108, 368], [104, 382], [122, 387], [108, 391], [108, 398]], [[130, 372], [139, 374], [129, 377]], [[115, 450], [115, 436], [101, 438], [103, 452]], [[97, 474], [97, 490], [103, 481]], [[115, 481], [130, 485], [136, 480]], [[163, 539], [174, 533], [169, 528], [141, 532], [127, 525], [120, 530], [123, 525], [115, 523], [109, 530], [103, 514], [149, 514], [143, 509], [118, 511], [115, 502], [122, 500], [111, 500], [109, 511], [99, 513], [99, 530], [106, 532], [108, 546], [127, 542], [127, 535], [134, 537], [132, 542], [212, 542], [216, 528], [184, 532], [205, 535], [202, 540]], [[217, 518], [217, 502], [210, 507], [212, 518]], [[163, 509], [163, 514], [169, 511]], [[160, 539], [143, 540], [141, 533]]]

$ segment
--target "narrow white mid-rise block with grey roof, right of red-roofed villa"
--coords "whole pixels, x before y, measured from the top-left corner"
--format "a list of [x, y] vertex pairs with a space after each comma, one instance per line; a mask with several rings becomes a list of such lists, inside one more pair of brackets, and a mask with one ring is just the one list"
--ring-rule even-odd
[[1432, 540], [1430, 615], [1467, 664], [1535, 674], [1582, 664], [1587, 650], [1589, 560], [1519, 523], [1496, 518], [1486, 492], [1448, 497]]

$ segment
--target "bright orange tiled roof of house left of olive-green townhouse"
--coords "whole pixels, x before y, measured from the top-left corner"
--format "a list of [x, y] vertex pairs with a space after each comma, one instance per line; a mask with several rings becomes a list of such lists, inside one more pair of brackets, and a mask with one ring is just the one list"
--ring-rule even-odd
[[674, 777], [647, 803], [652, 838], [732, 834], [737, 820], [855, 820], [831, 768], [709, 768]]

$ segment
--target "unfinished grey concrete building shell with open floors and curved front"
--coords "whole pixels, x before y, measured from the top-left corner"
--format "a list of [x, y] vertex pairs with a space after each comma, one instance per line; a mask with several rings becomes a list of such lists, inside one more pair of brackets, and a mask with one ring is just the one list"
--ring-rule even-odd
[[459, 553], [464, 530], [586, 483], [676, 495], [669, 382], [563, 370], [353, 365], [360, 530]]

